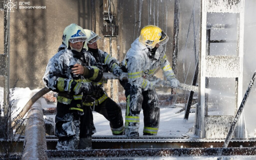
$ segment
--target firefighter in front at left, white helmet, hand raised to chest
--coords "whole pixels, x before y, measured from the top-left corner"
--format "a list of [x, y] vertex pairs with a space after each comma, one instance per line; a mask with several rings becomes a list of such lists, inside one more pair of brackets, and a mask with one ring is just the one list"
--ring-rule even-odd
[[59, 140], [56, 148], [72, 150], [77, 149], [80, 142], [81, 115], [86, 114], [86, 121], [81, 123], [89, 126], [88, 136], [95, 131], [92, 111], [84, 106], [94, 102], [90, 96], [92, 81], [101, 80], [103, 71], [86, 52], [88, 39], [80, 26], [67, 26], [62, 40], [64, 49], [49, 60], [43, 82], [47, 88], [58, 92], [55, 135]]

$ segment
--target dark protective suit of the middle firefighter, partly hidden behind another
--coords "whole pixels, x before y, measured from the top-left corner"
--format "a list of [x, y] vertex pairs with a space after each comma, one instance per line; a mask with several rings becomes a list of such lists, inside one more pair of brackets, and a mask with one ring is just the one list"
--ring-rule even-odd
[[[96, 59], [97, 64], [102, 64], [104, 72], [112, 72], [113, 69], [119, 67], [117, 59], [110, 56], [107, 52], [101, 49], [89, 48], [88, 52]], [[103, 89], [103, 83], [107, 80], [101, 79], [99, 82], [93, 82], [93, 98], [95, 98], [94, 111], [102, 114], [110, 121], [110, 126], [113, 135], [123, 134], [123, 116], [121, 107], [108, 97]]]

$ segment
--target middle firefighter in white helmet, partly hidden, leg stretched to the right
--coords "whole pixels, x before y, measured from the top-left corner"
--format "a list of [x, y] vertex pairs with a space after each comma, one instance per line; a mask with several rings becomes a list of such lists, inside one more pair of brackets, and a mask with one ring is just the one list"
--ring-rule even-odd
[[[120, 76], [123, 70], [119, 67], [120, 63], [117, 59], [110, 56], [107, 52], [98, 49], [97, 40], [101, 37], [89, 29], [84, 29], [86, 37], [88, 38], [88, 52], [96, 59], [97, 64], [100, 64], [104, 72], [113, 72], [114, 75]], [[64, 49], [64, 45], [60, 45], [58, 51]], [[79, 66], [82, 67], [82, 66]], [[113, 135], [123, 135], [123, 116], [121, 107], [108, 97], [103, 89], [103, 84], [107, 80], [100, 80], [93, 83], [93, 98], [95, 98], [94, 111], [102, 114], [109, 122]], [[83, 132], [81, 126], [81, 133]]]

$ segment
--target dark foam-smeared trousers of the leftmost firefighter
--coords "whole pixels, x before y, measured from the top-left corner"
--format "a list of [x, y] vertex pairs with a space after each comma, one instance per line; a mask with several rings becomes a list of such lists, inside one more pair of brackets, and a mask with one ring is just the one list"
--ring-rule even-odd
[[96, 132], [90, 106], [84, 106], [82, 116], [71, 113], [70, 105], [57, 103], [55, 135], [59, 138], [58, 150], [77, 149], [80, 138], [90, 138]]

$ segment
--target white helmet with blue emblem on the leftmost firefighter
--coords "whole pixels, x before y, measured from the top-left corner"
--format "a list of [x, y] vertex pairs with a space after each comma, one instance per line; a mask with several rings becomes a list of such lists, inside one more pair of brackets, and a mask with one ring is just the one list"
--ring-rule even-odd
[[72, 23], [64, 29], [62, 36], [62, 44], [65, 47], [65, 49], [69, 48], [69, 42], [75, 43], [81, 41], [85, 42], [83, 48], [88, 50], [88, 39], [82, 27]]

